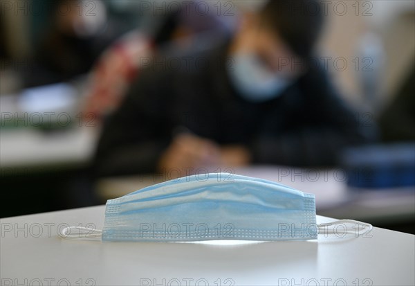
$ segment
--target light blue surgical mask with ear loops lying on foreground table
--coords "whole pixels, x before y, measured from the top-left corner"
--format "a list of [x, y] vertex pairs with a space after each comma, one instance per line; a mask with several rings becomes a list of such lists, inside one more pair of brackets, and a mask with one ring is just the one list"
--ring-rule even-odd
[[358, 225], [356, 236], [371, 230], [353, 220], [317, 225], [312, 194], [264, 179], [210, 173], [110, 199], [102, 231], [71, 226], [60, 236], [138, 242], [314, 240], [321, 231], [333, 234], [329, 226], [340, 223]]

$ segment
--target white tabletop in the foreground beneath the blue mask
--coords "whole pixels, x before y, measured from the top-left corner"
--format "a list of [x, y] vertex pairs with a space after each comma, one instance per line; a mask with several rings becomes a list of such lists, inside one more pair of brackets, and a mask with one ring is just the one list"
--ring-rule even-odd
[[[317, 216], [319, 223], [330, 220]], [[104, 206], [0, 220], [2, 285], [415, 284], [414, 235], [386, 229], [344, 241], [228, 245], [57, 236], [67, 225], [103, 222]]]

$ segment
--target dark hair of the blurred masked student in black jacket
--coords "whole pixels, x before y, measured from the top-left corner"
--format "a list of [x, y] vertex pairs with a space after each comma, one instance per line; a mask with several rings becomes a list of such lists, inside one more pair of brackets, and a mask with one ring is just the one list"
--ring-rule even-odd
[[259, 16], [300, 57], [310, 56], [324, 22], [322, 3], [315, 0], [269, 0]]

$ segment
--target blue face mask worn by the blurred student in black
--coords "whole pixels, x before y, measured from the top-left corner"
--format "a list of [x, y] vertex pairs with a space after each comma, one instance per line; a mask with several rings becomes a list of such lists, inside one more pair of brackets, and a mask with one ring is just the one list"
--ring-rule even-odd
[[253, 53], [236, 53], [232, 57], [229, 76], [239, 95], [250, 102], [277, 98], [291, 84], [273, 73]]

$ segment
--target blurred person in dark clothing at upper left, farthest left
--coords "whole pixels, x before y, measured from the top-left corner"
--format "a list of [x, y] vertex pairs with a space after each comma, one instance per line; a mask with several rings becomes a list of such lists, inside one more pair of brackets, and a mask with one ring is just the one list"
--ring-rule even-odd
[[55, 0], [48, 5], [50, 23], [39, 36], [30, 69], [24, 71], [24, 87], [64, 82], [88, 73], [119, 35], [100, 0]]

